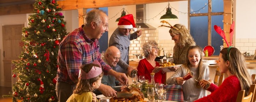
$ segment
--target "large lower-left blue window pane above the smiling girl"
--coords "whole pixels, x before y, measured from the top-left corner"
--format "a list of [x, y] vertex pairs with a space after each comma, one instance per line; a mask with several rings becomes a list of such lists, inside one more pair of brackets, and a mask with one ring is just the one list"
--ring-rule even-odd
[[208, 45], [208, 16], [190, 17], [190, 34], [202, 48]]

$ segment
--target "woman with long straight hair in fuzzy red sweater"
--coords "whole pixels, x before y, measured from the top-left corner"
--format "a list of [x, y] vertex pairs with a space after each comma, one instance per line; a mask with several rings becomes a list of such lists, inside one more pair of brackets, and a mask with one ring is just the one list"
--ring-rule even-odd
[[[200, 82], [201, 87], [211, 91], [211, 94], [195, 102], [236, 102], [240, 90], [245, 90], [245, 96], [248, 95], [252, 79], [241, 52], [237, 48], [223, 48], [219, 53], [218, 64], [221, 73], [226, 73], [228, 78], [219, 87], [207, 80]], [[206, 87], [206, 84], [209, 84], [209, 87]]]

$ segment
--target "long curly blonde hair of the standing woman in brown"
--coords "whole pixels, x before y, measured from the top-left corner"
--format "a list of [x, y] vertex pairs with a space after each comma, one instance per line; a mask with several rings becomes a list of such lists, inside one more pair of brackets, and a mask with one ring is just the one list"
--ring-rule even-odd
[[186, 44], [196, 45], [194, 38], [190, 35], [189, 30], [187, 30], [184, 25], [175, 24], [173, 27], [171, 27], [169, 33], [176, 35], [180, 34], [180, 42], [178, 43], [179, 46], [185, 46]]

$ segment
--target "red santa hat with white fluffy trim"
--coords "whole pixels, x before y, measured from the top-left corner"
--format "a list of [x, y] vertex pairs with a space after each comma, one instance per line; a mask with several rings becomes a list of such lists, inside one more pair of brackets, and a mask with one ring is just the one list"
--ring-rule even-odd
[[134, 32], [137, 31], [132, 14], [125, 15], [119, 19], [118, 28], [132, 29]]

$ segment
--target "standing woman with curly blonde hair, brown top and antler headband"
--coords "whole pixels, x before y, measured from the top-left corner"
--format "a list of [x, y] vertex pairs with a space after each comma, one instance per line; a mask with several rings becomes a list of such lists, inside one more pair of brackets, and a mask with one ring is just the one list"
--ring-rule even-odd
[[161, 25], [159, 27], [169, 27], [169, 33], [174, 40], [175, 46], [173, 47], [173, 61], [175, 64], [184, 64], [186, 60], [186, 52], [190, 46], [195, 46], [194, 38], [190, 35], [189, 30], [184, 25], [171, 24], [167, 21], [161, 21], [167, 23], [170, 26]]

